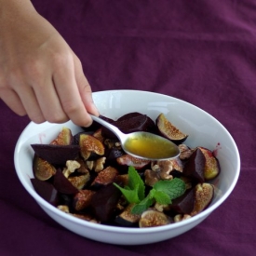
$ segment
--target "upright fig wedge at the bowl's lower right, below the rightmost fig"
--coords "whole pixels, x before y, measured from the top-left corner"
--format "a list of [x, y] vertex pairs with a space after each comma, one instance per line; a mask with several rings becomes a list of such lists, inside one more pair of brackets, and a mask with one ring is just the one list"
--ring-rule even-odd
[[211, 203], [214, 196], [214, 187], [210, 183], [198, 183], [195, 186], [195, 203], [191, 216], [195, 216], [202, 210], [206, 209]]

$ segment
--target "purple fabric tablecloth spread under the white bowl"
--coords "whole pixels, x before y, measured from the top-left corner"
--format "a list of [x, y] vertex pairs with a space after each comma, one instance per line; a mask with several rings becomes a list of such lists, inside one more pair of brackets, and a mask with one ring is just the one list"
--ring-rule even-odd
[[241, 174], [222, 206], [182, 236], [131, 247], [91, 241], [52, 221], [21, 186], [13, 154], [29, 119], [0, 101], [0, 255], [254, 255], [255, 1], [33, 2], [73, 47], [94, 91], [143, 89], [195, 104], [234, 137]]

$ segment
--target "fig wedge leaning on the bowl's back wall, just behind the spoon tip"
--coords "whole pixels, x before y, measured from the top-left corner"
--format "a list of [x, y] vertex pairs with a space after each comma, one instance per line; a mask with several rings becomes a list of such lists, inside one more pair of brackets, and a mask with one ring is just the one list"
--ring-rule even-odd
[[179, 128], [172, 125], [163, 113], [157, 116], [156, 127], [162, 136], [177, 144], [182, 143], [188, 137], [187, 134], [184, 134]]

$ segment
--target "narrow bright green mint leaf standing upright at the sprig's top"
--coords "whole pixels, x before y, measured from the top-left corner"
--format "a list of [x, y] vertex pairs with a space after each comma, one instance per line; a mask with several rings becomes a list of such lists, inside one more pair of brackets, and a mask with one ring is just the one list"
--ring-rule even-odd
[[134, 167], [128, 168], [128, 187], [134, 190], [138, 186], [138, 196], [140, 200], [145, 197], [145, 184], [141, 179], [141, 176]]

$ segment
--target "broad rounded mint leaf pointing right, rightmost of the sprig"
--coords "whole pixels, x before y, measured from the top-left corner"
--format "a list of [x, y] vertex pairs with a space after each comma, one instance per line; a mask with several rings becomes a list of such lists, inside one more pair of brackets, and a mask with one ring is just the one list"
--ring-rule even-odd
[[155, 182], [154, 188], [158, 192], [167, 194], [170, 200], [183, 195], [186, 190], [185, 182], [179, 178], [174, 178], [170, 181]]

